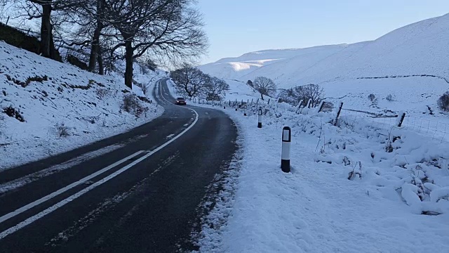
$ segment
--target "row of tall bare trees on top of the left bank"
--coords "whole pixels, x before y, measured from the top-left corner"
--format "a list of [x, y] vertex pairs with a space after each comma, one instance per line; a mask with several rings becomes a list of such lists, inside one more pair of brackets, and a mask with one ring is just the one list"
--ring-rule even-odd
[[[41, 56], [57, 60], [55, 43], [80, 48], [88, 70], [105, 74], [125, 63], [132, 86], [133, 63], [149, 67], [194, 62], [206, 52], [196, 0], [0, 0], [19, 24], [39, 20]], [[8, 17], [9, 19], [9, 17]], [[22, 20], [22, 21], [20, 21]]]

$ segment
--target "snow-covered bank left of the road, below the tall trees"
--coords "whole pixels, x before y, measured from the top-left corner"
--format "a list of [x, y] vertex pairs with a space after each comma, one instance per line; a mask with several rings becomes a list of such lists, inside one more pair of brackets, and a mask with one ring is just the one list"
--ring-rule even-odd
[[[120, 77], [85, 72], [3, 42], [0, 58], [0, 170], [119, 134], [163, 112], [126, 89]], [[152, 78], [154, 85], [153, 77], [140, 79]]]

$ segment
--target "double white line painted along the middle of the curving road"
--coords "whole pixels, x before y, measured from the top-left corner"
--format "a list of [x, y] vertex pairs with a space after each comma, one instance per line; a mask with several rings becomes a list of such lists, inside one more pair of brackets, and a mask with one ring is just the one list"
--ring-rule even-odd
[[[162, 88], [161, 88], [162, 89]], [[163, 98], [163, 96], [162, 96]], [[165, 99], [165, 98], [163, 98]], [[41, 219], [43, 216], [46, 216], [47, 214], [50, 214], [51, 212], [55, 211], [56, 209], [63, 207], [64, 205], [66, 205], [67, 203], [71, 202], [72, 200], [75, 200], [78, 197], [81, 197], [82, 195], [88, 193], [90, 190], [93, 190], [94, 188], [96, 188], [97, 186], [102, 185], [103, 183], [106, 183], [107, 181], [114, 179], [114, 177], [119, 176], [119, 174], [123, 173], [123, 171], [126, 171], [127, 169], [129, 169], [130, 167], [133, 167], [135, 164], [138, 164], [139, 162], [142, 162], [143, 160], [147, 159], [148, 157], [154, 155], [154, 153], [158, 152], [159, 150], [165, 148], [168, 144], [173, 143], [173, 141], [175, 141], [177, 138], [180, 138], [180, 136], [182, 136], [183, 134], [187, 133], [187, 131], [189, 131], [189, 129], [192, 129], [192, 127], [196, 124], [196, 122], [198, 122], [198, 112], [196, 112], [195, 110], [191, 109], [191, 108], [187, 108], [188, 110], [192, 110], [195, 113], [195, 120], [192, 124], [190, 124], [190, 126], [187, 127], [187, 129], [185, 129], [184, 131], [182, 131], [180, 134], [177, 134], [177, 136], [175, 136], [174, 138], [171, 138], [170, 141], [167, 141], [166, 143], [163, 143], [162, 145], [160, 145], [158, 148], [156, 148], [155, 150], [152, 150], [151, 152], [147, 153], [146, 155], [140, 157], [138, 160], [135, 160], [134, 162], [131, 162], [130, 164], [126, 165], [125, 167], [119, 169], [118, 171], [115, 171], [114, 173], [110, 174], [109, 176], [106, 176], [104, 179], [101, 179], [100, 181], [97, 181], [95, 183], [93, 183], [91, 186], [88, 186], [87, 188], [84, 188], [83, 190], [79, 191], [78, 193], [75, 193], [74, 195], [71, 195], [70, 197], [67, 197], [65, 200], [62, 200], [60, 202], [58, 202], [57, 204], [48, 207], [47, 209], [43, 210], [42, 212], [39, 212], [39, 214], [36, 214], [34, 216], [29, 217], [28, 219], [26, 219], [25, 221], [22, 221], [20, 223], [18, 223], [17, 225], [6, 229], [6, 231], [3, 231], [0, 233], [0, 240], [5, 238], [8, 235], [11, 235], [12, 233], [19, 231], [20, 229], [24, 228], [25, 226], [28, 226], [29, 224], [33, 223], [34, 221], [37, 221], [38, 219]], [[4, 216], [0, 217], [0, 223], [13, 218], [14, 216], [17, 216], [18, 214], [21, 214], [22, 212], [25, 212], [29, 209], [31, 209], [32, 207], [36, 207], [36, 205], [39, 205], [43, 202], [46, 202], [47, 200], [51, 200], [53, 197], [58, 196], [62, 193], [65, 193], [67, 190], [70, 190], [72, 188], [74, 188], [75, 186], [79, 186], [83, 183], [86, 183], [87, 181], [95, 178], [95, 176], [99, 176], [100, 174], [105, 173], [106, 171], [109, 171], [110, 169], [122, 164], [123, 162], [126, 162], [130, 159], [132, 159], [133, 157], [136, 157], [138, 155], [141, 155], [142, 153], [145, 153], [146, 151], [144, 150], [140, 150], [136, 153], [134, 153], [133, 155], [129, 155], [128, 157], [123, 158], [122, 160], [115, 162], [114, 164], [109, 165], [108, 167], [105, 167], [103, 169], [100, 169], [99, 171], [86, 176], [83, 179], [80, 179], [79, 181], [76, 181], [74, 183], [69, 184], [69, 186], [65, 186], [64, 188], [61, 188], [60, 190], [55, 191], [54, 193], [51, 193], [49, 195], [46, 195], [45, 197], [41, 197], [39, 200], [36, 200], [34, 202], [29, 203], [28, 205], [25, 205], [23, 207], [20, 207], [19, 209], [15, 210], [14, 212], [11, 212], [9, 214], [5, 214]]]

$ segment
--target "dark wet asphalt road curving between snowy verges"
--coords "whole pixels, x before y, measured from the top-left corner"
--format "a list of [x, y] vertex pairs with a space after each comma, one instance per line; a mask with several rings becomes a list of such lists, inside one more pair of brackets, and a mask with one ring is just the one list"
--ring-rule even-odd
[[[197, 209], [236, 152], [236, 126], [218, 110], [174, 105], [148, 124], [0, 172], [0, 252], [192, 250]], [[100, 156], [111, 145], [120, 148]]]

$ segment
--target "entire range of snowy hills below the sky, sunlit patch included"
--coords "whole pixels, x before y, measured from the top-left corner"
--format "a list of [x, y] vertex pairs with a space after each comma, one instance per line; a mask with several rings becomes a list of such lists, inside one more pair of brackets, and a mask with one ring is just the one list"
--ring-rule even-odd
[[359, 77], [449, 77], [447, 27], [449, 14], [401, 27], [375, 41], [260, 51], [199, 68], [217, 77], [241, 81], [267, 76], [282, 88]]

